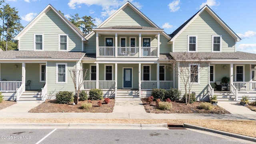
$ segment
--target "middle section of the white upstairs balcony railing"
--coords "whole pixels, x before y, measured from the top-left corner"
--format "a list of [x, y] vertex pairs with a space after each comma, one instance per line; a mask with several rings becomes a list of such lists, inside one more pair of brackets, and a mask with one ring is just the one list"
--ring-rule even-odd
[[118, 47], [118, 57], [139, 57], [139, 47]]

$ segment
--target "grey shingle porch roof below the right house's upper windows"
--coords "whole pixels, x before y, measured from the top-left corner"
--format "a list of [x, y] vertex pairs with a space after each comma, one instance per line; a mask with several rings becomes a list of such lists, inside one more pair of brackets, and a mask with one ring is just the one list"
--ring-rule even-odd
[[[195, 56], [196, 54], [196, 56]], [[186, 58], [182, 59], [184, 56], [184, 52], [170, 52], [170, 55], [174, 59], [191, 59], [193, 56], [197, 57], [200, 60], [256, 60], [256, 54], [248, 53], [248, 52], [187, 52]]]

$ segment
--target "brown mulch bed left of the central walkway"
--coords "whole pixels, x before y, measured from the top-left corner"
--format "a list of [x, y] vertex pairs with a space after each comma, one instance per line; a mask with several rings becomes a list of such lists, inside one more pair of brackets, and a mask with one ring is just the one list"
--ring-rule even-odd
[[[86, 100], [87, 101], [87, 100]], [[46, 100], [39, 106], [31, 109], [29, 112], [99, 112], [99, 113], [109, 113], [113, 112], [113, 108], [115, 105], [115, 100], [110, 99], [110, 102], [106, 104], [103, 100], [102, 106], [98, 106], [98, 100], [92, 101], [92, 108], [90, 110], [80, 109], [82, 103], [86, 101], [79, 101], [78, 104], [73, 105], [73, 102], [70, 104], [57, 104], [56, 100]]]

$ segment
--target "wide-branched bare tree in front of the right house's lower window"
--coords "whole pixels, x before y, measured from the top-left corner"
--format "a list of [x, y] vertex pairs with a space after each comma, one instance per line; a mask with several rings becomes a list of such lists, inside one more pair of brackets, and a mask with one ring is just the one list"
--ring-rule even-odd
[[170, 65], [175, 66], [175, 73], [184, 84], [185, 100], [188, 105], [193, 84], [204, 76], [200, 72], [208, 68], [209, 62], [206, 61], [208, 58], [193, 52], [176, 52], [172, 53], [172, 56], [173, 60], [170, 60]]

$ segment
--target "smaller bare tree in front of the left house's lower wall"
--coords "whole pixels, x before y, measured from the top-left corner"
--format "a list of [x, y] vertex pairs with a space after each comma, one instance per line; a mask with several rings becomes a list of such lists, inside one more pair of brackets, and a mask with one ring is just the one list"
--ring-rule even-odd
[[75, 95], [75, 98], [74, 98], [74, 103], [75, 104], [78, 104], [80, 90], [81, 90], [81, 88], [83, 86], [83, 80], [86, 77], [87, 70], [88, 69], [85, 70], [84, 76], [83, 76], [83, 69], [82, 68], [79, 69], [79, 70], [68, 69], [68, 71], [70, 72], [70, 76], [71, 76], [71, 78], [73, 80], [74, 87], [75, 87], [75, 92], [76, 92], [76, 95]]

